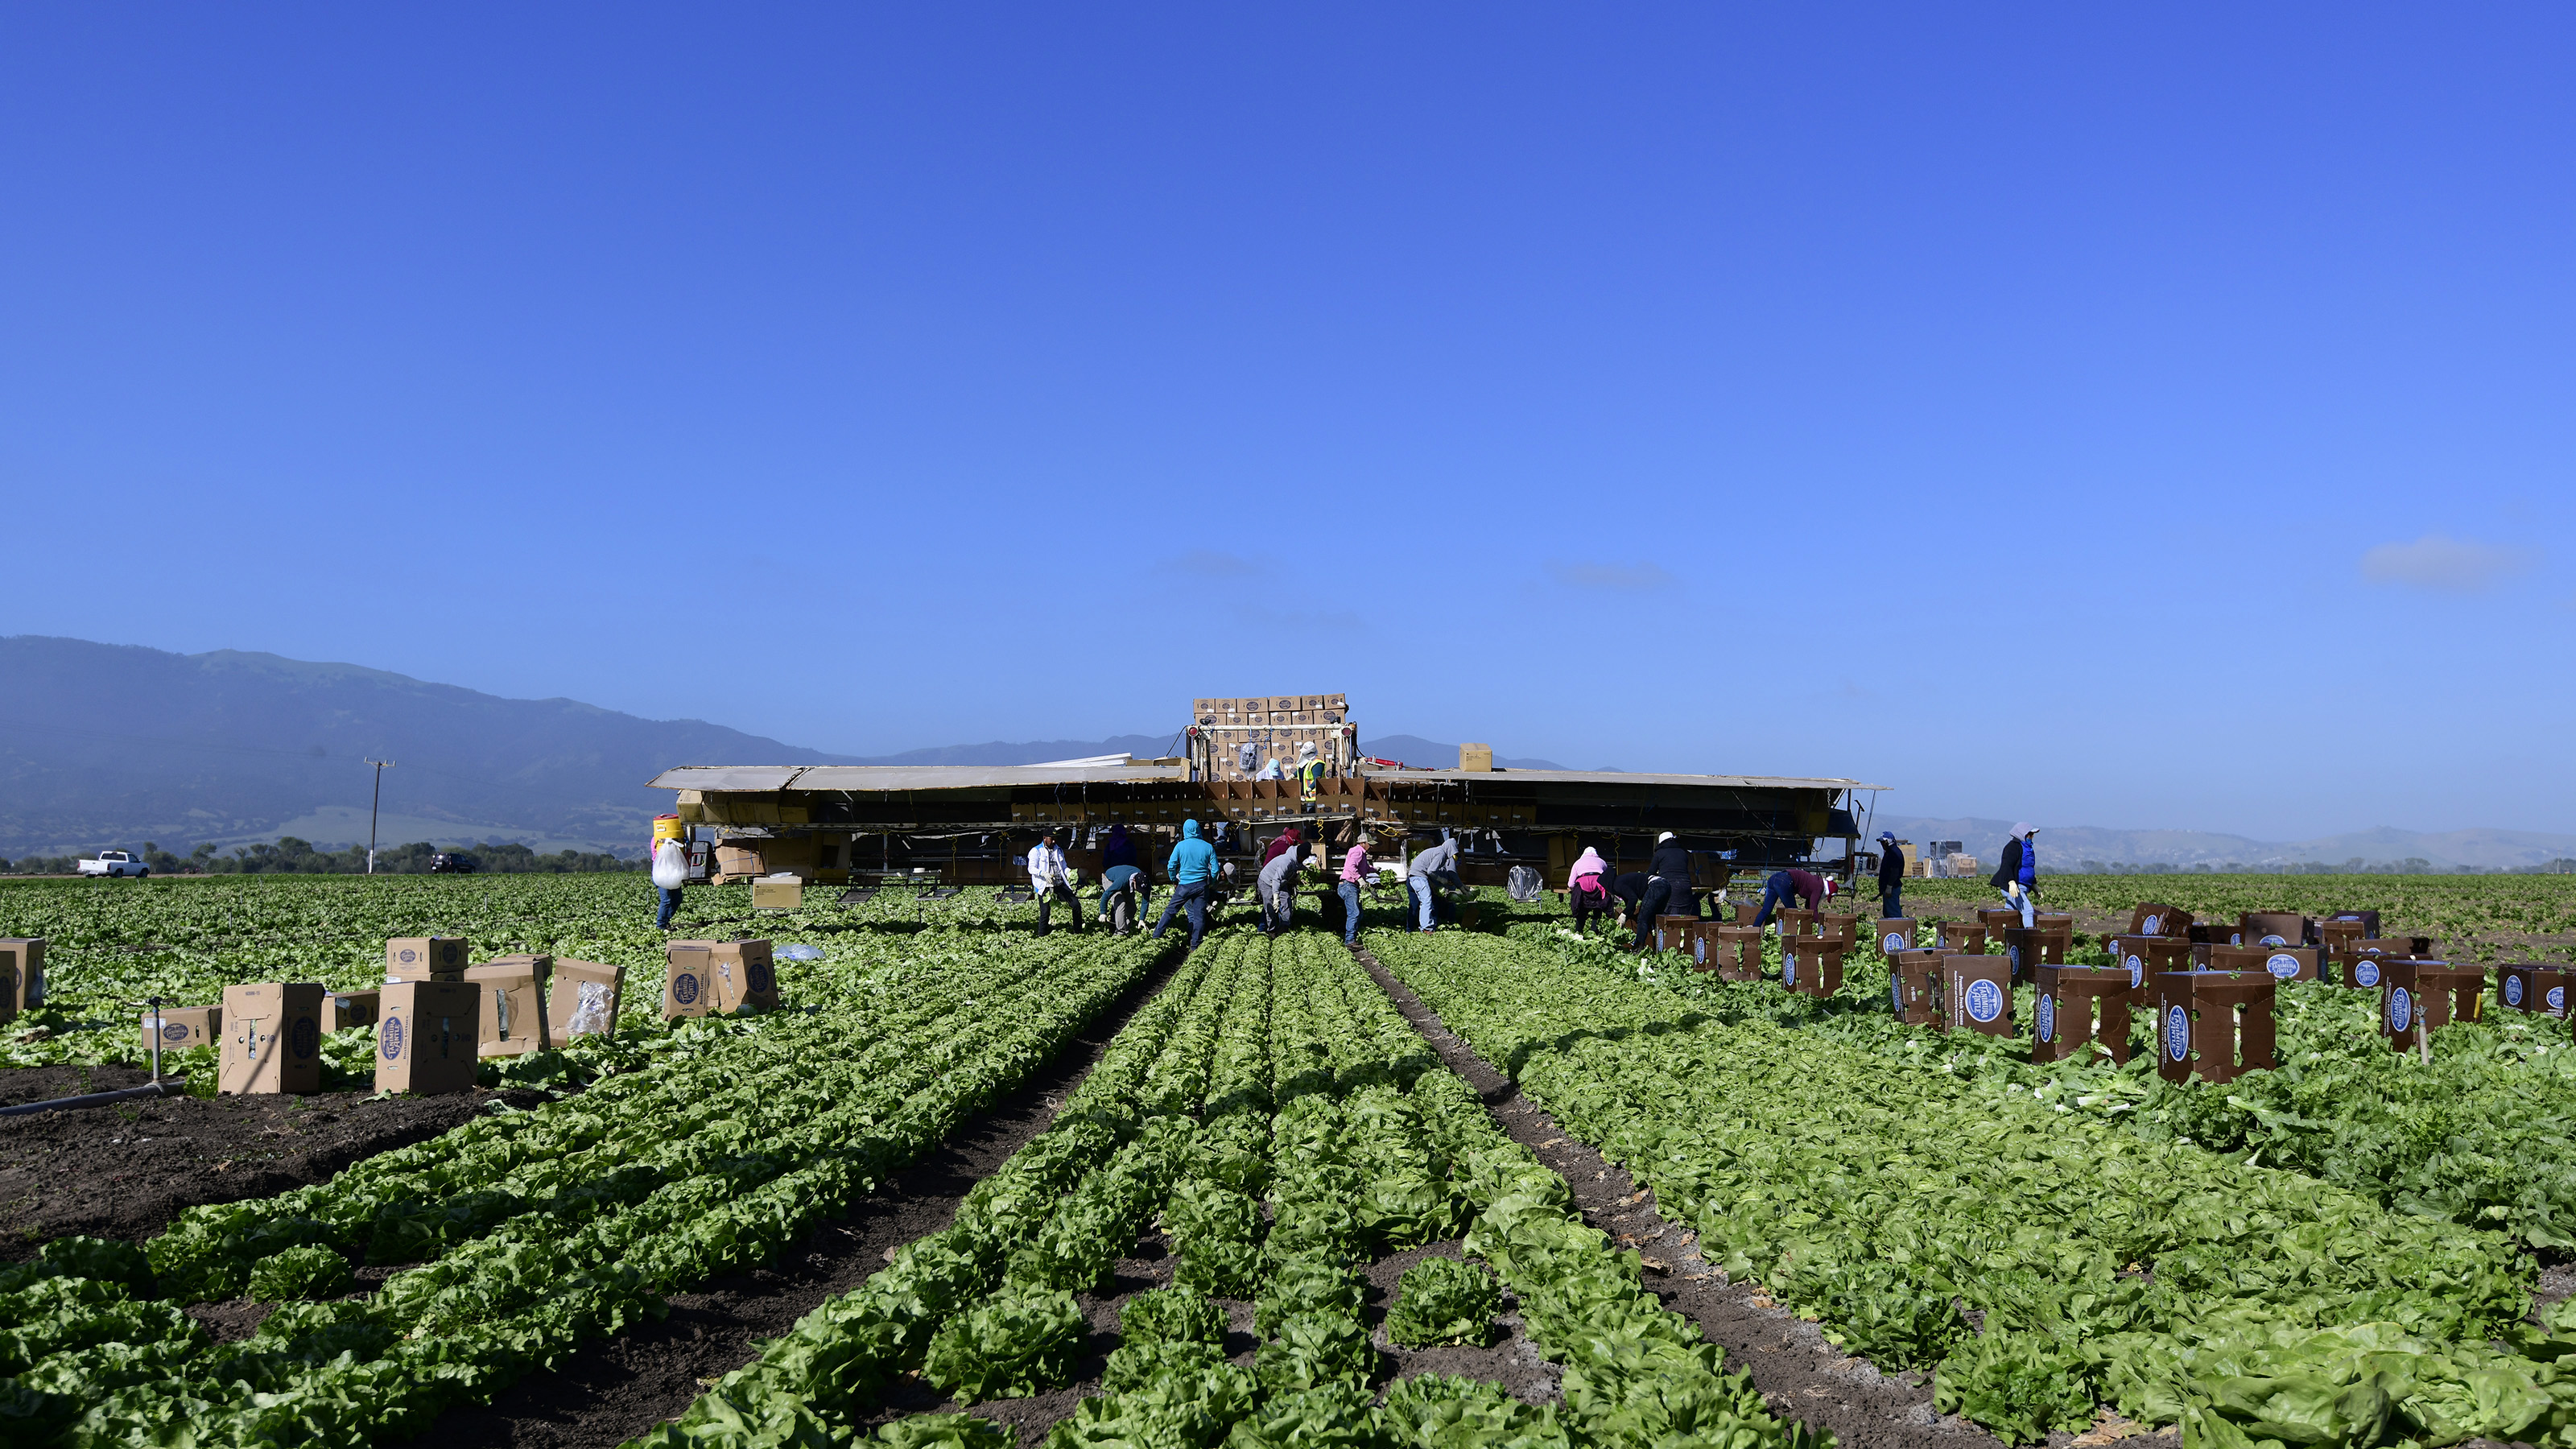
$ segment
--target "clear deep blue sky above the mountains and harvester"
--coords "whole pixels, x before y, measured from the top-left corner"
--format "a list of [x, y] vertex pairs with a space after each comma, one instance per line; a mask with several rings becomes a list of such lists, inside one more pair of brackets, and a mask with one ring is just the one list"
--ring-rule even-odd
[[13, 5], [0, 632], [2576, 830], [2563, 5]]

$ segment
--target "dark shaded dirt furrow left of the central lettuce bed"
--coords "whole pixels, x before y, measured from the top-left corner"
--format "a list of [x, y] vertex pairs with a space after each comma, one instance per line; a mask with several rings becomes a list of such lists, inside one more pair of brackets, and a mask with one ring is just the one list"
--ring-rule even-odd
[[1046, 1132], [1110, 1036], [1167, 980], [1170, 967], [1139, 982], [1028, 1085], [930, 1158], [894, 1173], [855, 1212], [788, 1245], [775, 1263], [672, 1294], [662, 1323], [585, 1343], [562, 1369], [528, 1374], [492, 1405], [451, 1408], [415, 1444], [613, 1449], [680, 1418], [706, 1385], [750, 1364], [765, 1338], [778, 1338], [827, 1297], [868, 1281], [904, 1243], [948, 1227], [966, 1191]]

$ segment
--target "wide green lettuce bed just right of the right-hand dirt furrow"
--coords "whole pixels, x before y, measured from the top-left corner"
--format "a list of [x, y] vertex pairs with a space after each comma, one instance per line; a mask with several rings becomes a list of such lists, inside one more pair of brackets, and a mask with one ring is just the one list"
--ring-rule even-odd
[[1370, 946], [1710, 1261], [2004, 1436], [2115, 1408], [2192, 1449], [2576, 1441], [2576, 1341], [2496, 1232], [1775, 1021], [1759, 985], [1710, 1011], [1574, 944]]

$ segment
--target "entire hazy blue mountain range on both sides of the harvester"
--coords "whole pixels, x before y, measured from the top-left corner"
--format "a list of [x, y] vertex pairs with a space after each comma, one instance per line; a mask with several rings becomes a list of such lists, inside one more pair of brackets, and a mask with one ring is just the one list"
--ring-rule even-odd
[[[361, 665], [216, 650], [173, 655], [85, 639], [0, 637], [0, 856], [72, 853], [155, 841], [185, 853], [301, 835], [366, 843], [366, 758], [384, 771], [379, 841], [520, 841], [541, 851], [641, 848], [670, 794], [644, 781], [670, 766], [1023, 766], [1128, 753], [1177, 737], [943, 745], [899, 755], [827, 755], [703, 719], [639, 719], [572, 699], [500, 699]], [[1360, 753], [1455, 768], [1458, 745], [1417, 735]], [[1497, 755], [1502, 768], [1553, 761]], [[2522, 830], [2360, 830], [2251, 841], [2208, 830], [2102, 830], [2040, 822], [2050, 869], [2102, 864], [2406, 861], [2537, 866], [2576, 859], [2576, 835]], [[1965, 841], [1994, 861], [2009, 820], [1880, 815], [1909, 841]]]

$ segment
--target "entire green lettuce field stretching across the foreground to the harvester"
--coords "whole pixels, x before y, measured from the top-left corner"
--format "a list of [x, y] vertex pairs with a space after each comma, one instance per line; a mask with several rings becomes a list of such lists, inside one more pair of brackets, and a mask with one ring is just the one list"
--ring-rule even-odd
[[[2378, 908], [2458, 959], [2576, 938], [2553, 877], [2048, 890]], [[634, 877], [0, 884], [0, 933], [49, 941], [0, 1029], [26, 1083], [131, 1075], [144, 995], [374, 985], [392, 936], [629, 969], [613, 1036], [286, 1191], [224, 1186], [276, 1145], [124, 1158], [216, 1101], [0, 1119], [0, 1165], [201, 1176], [131, 1238], [0, 1240], [0, 1444], [2576, 1449], [2566, 1021], [2427, 1060], [2290, 982], [2277, 1070], [2172, 1085], [1899, 1024], [1868, 949], [1793, 995], [1553, 897], [1373, 910], [1360, 951], [1249, 910], [1188, 951], [1041, 938], [992, 890], [809, 902], [690, 890], [677, 933], [770, 938], [783, 1008], [665, 1024]], [[299, 1109], [371, 1096], [371, 1029], [340, 1036]], [[747, 1328], [675, 1333], [708, 1302]]]

